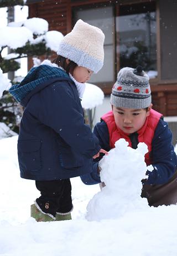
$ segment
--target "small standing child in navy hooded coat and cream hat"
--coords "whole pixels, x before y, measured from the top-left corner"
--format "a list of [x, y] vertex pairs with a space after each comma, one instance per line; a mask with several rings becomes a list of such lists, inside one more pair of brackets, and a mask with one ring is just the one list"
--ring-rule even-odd
[[70, 178], [89, 173], [103, 152], [84, 122], [85, 82], [103, 65], [101, 29], [77, 21], [61, 41], [54, 63], [32, 68], [9, 90], [24, 106], [18, 138], [20, 176], [35, 180], [41, 196], [31, 206], [37, 221], [71, 219]]

